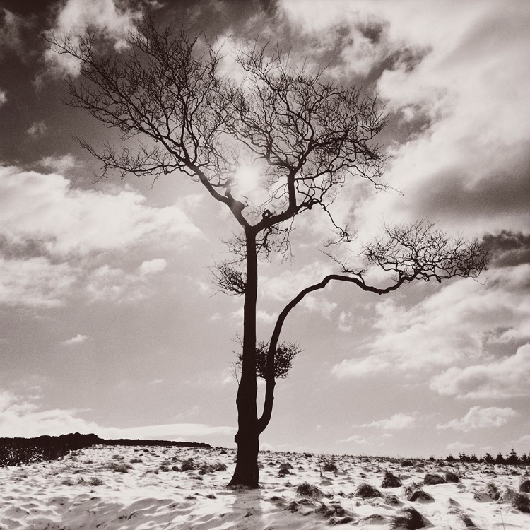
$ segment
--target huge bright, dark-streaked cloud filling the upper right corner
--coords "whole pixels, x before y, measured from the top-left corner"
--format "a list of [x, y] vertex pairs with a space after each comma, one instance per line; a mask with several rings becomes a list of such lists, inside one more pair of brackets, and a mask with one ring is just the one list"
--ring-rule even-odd
[[392, 155], [385, 179], [405, 196], [358, 202], [360, 233], [382, 216], [430, 216], [478, 236], [530, 229], [528, 4], [451, 1], [418, 11], [416, 2], [283, 0], [279, 11], [309, 61], [357, 74], [390, 113], [392, 136], [380, 135]]

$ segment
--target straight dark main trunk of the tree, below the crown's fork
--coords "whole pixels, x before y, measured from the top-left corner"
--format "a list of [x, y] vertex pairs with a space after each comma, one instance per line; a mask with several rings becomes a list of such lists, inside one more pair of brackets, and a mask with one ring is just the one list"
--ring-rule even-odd
[[237, 461], [229, 486], [259, 488], [258, 452], [259, 429], [257, 413], [256, 375], [256, 304], [258, 266], [256, 239], [251, 230], [245, 231], [247, 251], [247, 285], [243, 308], [243, 358], [241, 380], [237, 389]]

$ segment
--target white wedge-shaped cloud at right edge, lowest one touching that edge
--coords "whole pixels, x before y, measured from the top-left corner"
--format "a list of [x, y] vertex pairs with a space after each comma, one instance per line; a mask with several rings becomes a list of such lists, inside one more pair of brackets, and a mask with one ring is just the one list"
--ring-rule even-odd
[[442, 396], [507, 399], [530, 395], [530, 344], [489, 363], [452, 367], [433, 377], [430, 388]]

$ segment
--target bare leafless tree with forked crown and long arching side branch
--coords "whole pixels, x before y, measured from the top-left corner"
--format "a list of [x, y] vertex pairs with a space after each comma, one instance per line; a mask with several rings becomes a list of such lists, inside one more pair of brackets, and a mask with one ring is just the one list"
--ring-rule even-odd
[[[47, 41], [59, 54], [79, 61], [81, 81], [69, 80], [69, 105], [88, 110], [121, 134], [121, 146], [107, 144], [101, 151], [80, 140], [102, 163], [102, 177], [112, 170], [153, 180], [184, 172], [225, 204], [240, 227], [240, 235], [228, 242], [234, 259], [213, 271], [220, 290], [245, 298], [237, 464], [230, 485], [257, 488], [259, 435], [271, 418], [275, 380], [298, 352], [298, 346], [279, 343], [293, 307], [331, 281], [384, 294], [418, 279], [477, 276], [487, 262], [485, 249], [477, 242], [450, 240], [429, 223], [389, 227], [387, 238], [368, 245], [363, 254], [369, 265], [394, 273], [390, 285], [367, 285], [364, 269], [334, 258], [341, 272], [302, 290], [281, 312], [271, 340], [258, 342], [259, 258], [289, 252], [295, 218], [312, 208], [329, 216], [336, 235], [330, 245], [350, 241], [353, 232], [331, 213], [337, 192], [354, 177], [385, 187], [384, 153], [373, 141], [385, 124], [376, 98], [336, 86], [324, 70], [297, 66], [281, 49], [257, 44], [237, 55], [243, 81], [221, 77], [221, 57], [203, 39], [148, 19], [129, 35], [122, 52], [105, 52], [90, 33], [73, 39], [48, 35]], [[242, 163], [259, 167], [264, 199], [254, 203], [238, 196], [235, 175]], [[258, 375], [266, 379], [261, 416]]]

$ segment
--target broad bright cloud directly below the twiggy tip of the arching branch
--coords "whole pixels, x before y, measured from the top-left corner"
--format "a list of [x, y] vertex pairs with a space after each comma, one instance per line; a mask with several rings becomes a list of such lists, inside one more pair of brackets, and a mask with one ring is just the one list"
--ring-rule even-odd
[[487, 358], [493, 346], [527, 341], [529, 277], [530, 264], [502, 267], [484, 273], [481, 282], [458, 279], [446, 283], [413, 305], [396, 297], [377, 302], [375, 337], [357, 348], [355, 358], [343, 360], [332, 372], [339, 377], [388, 370], [429, 373], [476, 363]]

